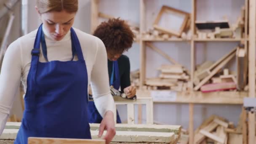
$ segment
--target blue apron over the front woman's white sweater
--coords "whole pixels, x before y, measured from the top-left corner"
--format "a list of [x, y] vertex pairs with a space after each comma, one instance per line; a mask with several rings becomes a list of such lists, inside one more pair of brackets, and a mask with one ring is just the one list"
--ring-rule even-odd
[[[31, 136], [91, 139], [87, 69], [77, 35], [74, 29], [70, 31], [78, 61], [44, 63], [39, 61], [40, 42], [43, 52], [47, 51], [42, 25], [37, 31], [27, 77], [24, 116], [15, 144], [27, 144]], [[45, 55], [47, 58], [44, 52]]]

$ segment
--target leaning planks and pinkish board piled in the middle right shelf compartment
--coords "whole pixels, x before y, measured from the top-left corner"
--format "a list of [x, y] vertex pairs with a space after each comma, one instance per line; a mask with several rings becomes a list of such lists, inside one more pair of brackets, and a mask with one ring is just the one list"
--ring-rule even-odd
[[[196, 68], [193, 83], [194, 90], [203, 92], [243, 90], [248, 76], [248, 52], [241, 41], [232, 51], [221, 57], [218, 61], [205, 61]], [[237, 74], [229, 72], [223, 67], [235, 57], [237, 63]]]

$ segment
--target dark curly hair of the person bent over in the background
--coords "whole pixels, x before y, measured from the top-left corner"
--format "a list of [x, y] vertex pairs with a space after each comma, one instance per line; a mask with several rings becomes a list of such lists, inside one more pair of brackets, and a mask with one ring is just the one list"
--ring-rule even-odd
[[119, 18], [102, 22], [93, 35], [103, 41], [107, 51], [114, 53], [128, 51], [133, 44], [134, 37], [129, 25]]

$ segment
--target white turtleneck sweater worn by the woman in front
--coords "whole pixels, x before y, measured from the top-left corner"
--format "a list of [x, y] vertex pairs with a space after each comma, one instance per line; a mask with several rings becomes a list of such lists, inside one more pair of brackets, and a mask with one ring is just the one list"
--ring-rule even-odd
[[[74, 28], [75, 29], [75, 28]], [[70, 61], [72, 59], [70, 31], [60, 41], [51, 40], [44, 30], [47, 45], [48, 61]], [[104, 43], [97, 37], [75, 29], [83, 51], [83, 57], [88, 72], [88, 84], [91, 83], [93, 99], [101, 116], [105, 112], [114, 112], [114, 100], [109, 90], [107, 68], [107, 53]], [[27, 90], [27, 75], [31, 63], [37, 30], [20, 37], [9, 45], [2, 64], [0, 74], [0, 134], [10, 114], [20, 81]], [[75, 56], [74, 60], [77, 60]], [[46, 62], [43, 53], [40, 53], [40, 62]], [[88, 87], [85, 87], [88, 88]]]

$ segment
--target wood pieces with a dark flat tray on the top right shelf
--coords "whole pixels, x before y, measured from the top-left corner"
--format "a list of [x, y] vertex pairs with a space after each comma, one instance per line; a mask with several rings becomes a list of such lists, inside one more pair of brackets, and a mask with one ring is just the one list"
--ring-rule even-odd
[[[222, 25], [220, 25], [222, 23]], [[244, 37], [243, 29], [245, 27], [245, 6], [242, 6], [240, 16], [235, 24], [229, 26], [228, 20], [223, 21], [196, 21], [198, 39], [215, 39], [215, 38], [237, 38]], [[227, 28], [215, 27], [213, 25], [226, 25]]]

